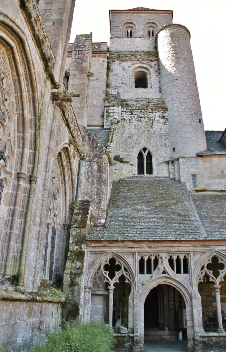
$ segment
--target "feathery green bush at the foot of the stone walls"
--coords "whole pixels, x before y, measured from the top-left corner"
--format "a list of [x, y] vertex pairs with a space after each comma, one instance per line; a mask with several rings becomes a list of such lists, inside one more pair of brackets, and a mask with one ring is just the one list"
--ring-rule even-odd
[[114, 345], [112, 329], [106, 324], [67, 325], [61, 332], [46, 333], [45, 341], [31, 352], [110, 352]]

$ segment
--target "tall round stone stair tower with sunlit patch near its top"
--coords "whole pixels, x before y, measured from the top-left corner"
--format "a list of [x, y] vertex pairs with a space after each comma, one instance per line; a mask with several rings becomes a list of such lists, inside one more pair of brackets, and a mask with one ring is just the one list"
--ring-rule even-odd
[[189, 30], [179, 24], [156, 33], [162, 98], [168, 108], [171, 157], [195, 157], [206, 149]]

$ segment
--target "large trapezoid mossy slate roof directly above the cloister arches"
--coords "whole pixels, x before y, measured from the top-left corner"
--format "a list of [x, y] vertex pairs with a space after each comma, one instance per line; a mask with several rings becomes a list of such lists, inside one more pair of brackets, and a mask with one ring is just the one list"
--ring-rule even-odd
[[88, 240], [210, 238], [186, 184], [169, 178], [114, 182], [105, 226], [91, 228]]

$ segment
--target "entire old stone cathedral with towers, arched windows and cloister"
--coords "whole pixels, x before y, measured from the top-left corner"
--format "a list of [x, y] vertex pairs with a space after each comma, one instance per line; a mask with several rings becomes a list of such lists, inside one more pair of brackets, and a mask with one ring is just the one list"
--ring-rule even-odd
[[137, 7], [69, 43], [74, 6], [0, 0], [0, 344], [101, 320], [118, 351], [225, 351], [226, 130], [190, 32]]

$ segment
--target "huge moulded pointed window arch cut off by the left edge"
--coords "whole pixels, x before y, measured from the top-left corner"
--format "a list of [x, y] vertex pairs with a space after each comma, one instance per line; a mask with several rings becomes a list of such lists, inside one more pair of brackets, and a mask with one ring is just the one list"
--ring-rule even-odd
[[6, 146], [7, 161], [4, 165], [0, 163], [0, 177], [4, 184], [0, 206], [0, 235], [4, 238], [0, 248], [0, 271], [15, 275], [20, 270], [21, 248], [26, 254], [26, 243], [22, 243], [24, 233], [28, 234], [21, 220], [29, 215], [26, 211], [21, 213], [20, 209], [25, 209], [25, 204], [32, 202], [34, 191], [27, 175], [34, 175], [35, 182], [37, 173], [38, 85], [28, 40], [18, 25], [5, 15], [0, 15], [0, 57], [3, 95], [0, 150], [2, 145]]

